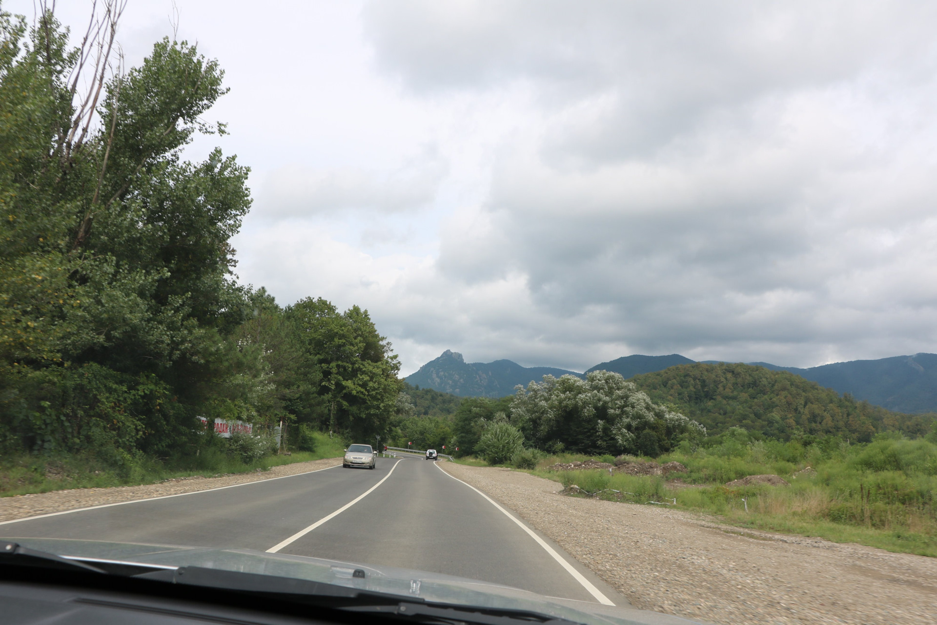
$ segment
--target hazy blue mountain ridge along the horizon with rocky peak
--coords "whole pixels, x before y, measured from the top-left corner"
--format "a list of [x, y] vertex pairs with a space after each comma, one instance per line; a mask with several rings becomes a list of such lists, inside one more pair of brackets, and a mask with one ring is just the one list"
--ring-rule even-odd
[[[703, 361], [703, 364], [721, 362], [723, 361]], [[674, 365], [692, 363], [695, 361], [680, 354], [632, 354], [600, 363], [588, 371], [615, 371], [628, 379], [636, 375], [662, 371]], [[774, 371], [789, 371], [837, 393], [852, 394], [855, 399], [865, 400], [889, 410], [908, 413], [937, 412], [937, 354], [917, 353], [912, 356], [855, 360], [808, 368], [770, 363], [746, 365], [764, 366]], [[548, 374], [557, 378], [564, 374], [585, 377], [585, 374], [576, 371], [549, 366], [526, 367], [510, 360], [466, 363], [462, 354], [445, 350], [439, 358], [426, 363], [419, 371], [408, 376], [407, 381], [413, 385], [464, 397], [503, 397], [513, 394], [517, 384], [527, 386], [531, 380], [540, 381]]]

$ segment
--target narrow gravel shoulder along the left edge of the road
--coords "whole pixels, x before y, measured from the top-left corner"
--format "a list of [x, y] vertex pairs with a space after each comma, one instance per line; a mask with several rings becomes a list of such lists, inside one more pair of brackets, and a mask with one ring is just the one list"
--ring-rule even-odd
[[13, 519], [37, 516], [39, 514], [61, 513], [79, 508], [91, 508], [112, 503], [123, 503], [137, 499], [152, 499], [170, 495], [195, 493], [201, 490], [248, 484], [307, 473], [318, 469], [328, 469], [342, 464], [341, 457], [312, 460], [311, 462], [297, 462], [292, 465], [280, 465], [266, 471], [253, 473], [236, 473], [216, 478], [203, 478], [194, 476], [167, 480], [159, 484], [143, 484], [141, 486], [116, 486], [112, 488], [75, 488], [72, 490], [55, 490], [51, 493], [37, 493], [34, 495], [18, 495], [16, 497], [0, 498], [0, 522]]

